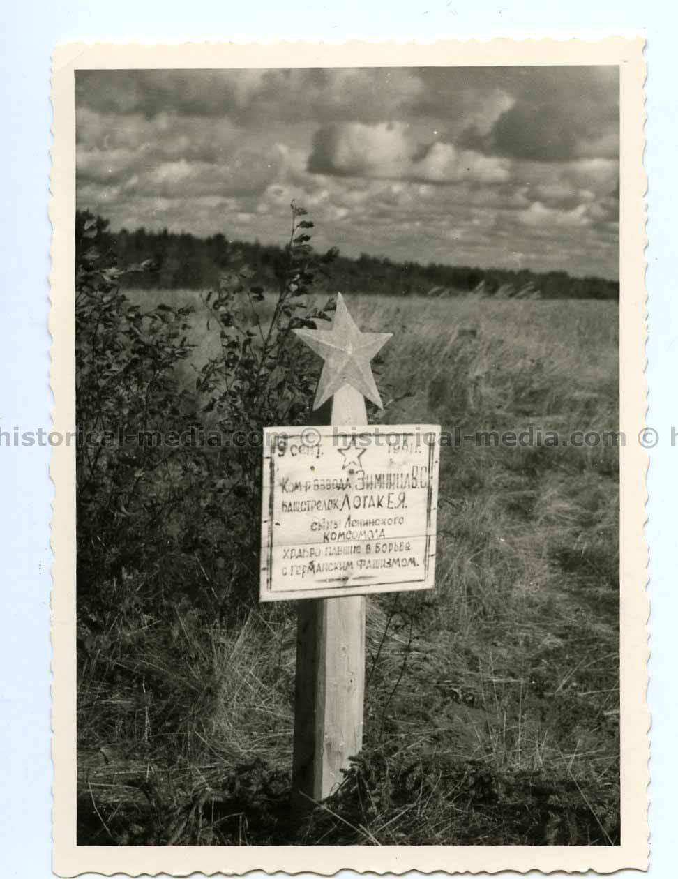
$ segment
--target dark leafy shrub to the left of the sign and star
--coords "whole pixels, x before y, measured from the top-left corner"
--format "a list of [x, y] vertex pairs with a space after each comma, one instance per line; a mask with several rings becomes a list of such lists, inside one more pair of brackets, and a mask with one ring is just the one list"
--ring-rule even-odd
[[[98, 614], [115, 578], [135, 578], [151, 600], [171, 583], [172, 599], [221, 613], [252, 605], [258, 578], [261, 449], [169, 447], [121, 438], [204, 428], [205, 418], [227, 439], [256, 436], [266, 425], [299, 424], [307, 417], [314, 381], [310, 352], [290, 331], [325, 320], [308, 307], [318, 270], [310, 247], [313, 223], [292, 205], [292, 228], [266, 301], [241, 268], [208, 294], [220, 353], [200, 368], [195, 389], [179, 378], [193, 309], [164, 303], [143, 309], [120, 291], [120, 279], [148, 264], [121, 269], [97, 244], [104, 223], [80, 223], [77, 247], [77, 426], [98, 432], [77, 449], [77, 582], [81, 610]], [[87, 246], [87, 245], [90, 246]], [[271, 302], [273, 298], [273, 302]], [[273, 315], [262, 314], [273, 305]], [[262, 308], [259, 308], [262, 305]], [[200, 403], [198, 402], [200, 401]], [[197, 434], [193, 434], [197, 435]], [[183, 440], [182, 440], [183, 441]]]

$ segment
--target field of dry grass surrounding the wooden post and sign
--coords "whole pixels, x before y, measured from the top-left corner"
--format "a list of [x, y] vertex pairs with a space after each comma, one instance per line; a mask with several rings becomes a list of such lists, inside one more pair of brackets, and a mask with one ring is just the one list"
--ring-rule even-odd
[[[347, 304], [394, 333], [387, 422], [617, 429], [616, 303]], [[200, 359], [215, 341], [192, 320]], [[615, 842], [618, 488], [614, 447], [443, 449], [435, 590], [368, 599], [365, 751], [303, 832], [287, 808], [292, 609], [252, 607], [236, 628], [189, 608], [137, 619], [132, 585], [111, 583], [117, 611], [79, 670], [81, 843]]]

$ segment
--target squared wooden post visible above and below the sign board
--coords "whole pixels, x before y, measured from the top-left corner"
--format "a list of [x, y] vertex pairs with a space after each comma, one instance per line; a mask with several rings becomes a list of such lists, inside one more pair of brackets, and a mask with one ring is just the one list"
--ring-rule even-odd
[[[328, 404], [318, 414], [325, 419], [329, 415], [329, 424], [367, 425], [364, 397], [350, 385], [340, 388]], [[297, 816], [332, 793], [349, 758], [360, 752], [364, 689], [365, 599], [359, 595], [300, 601], [292, 766]]]

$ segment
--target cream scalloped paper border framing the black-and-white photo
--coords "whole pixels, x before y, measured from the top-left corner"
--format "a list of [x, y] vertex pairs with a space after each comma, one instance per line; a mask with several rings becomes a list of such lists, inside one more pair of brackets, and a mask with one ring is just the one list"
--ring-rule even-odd
[[242, 875], [250, 870], [331, 875], [342, 868], [376, 874], [409, 870], [609, 873], [647, 868], [647, 784], [650, 716], [645, 702], [649, 602], [645, 523], [647, 454], [635, 438], [645, 426], [644, 42], [607, 40], [469, 40], [433, 44], [310, 42], [274, 45], [192, 43], [172, 46], [69, 44], [53, 57], [54, 145], [50, 331], [53, 429], [75, 428], [75, 76], [77, 69], [273, 67], [409, 67], [614, 64], [620, 68], [620, 428], [621, 448], [621, 754], [620, 846], [77, 846], [75, 454], [55, 447], [52, 548], [53, 868], [80, 873]]

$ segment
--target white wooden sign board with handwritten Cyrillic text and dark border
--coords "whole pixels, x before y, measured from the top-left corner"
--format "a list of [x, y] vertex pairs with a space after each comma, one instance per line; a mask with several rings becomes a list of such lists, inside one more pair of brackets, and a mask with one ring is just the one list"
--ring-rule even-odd
[[267, 427], [261, 601], [432, 589], [440, 427]]

